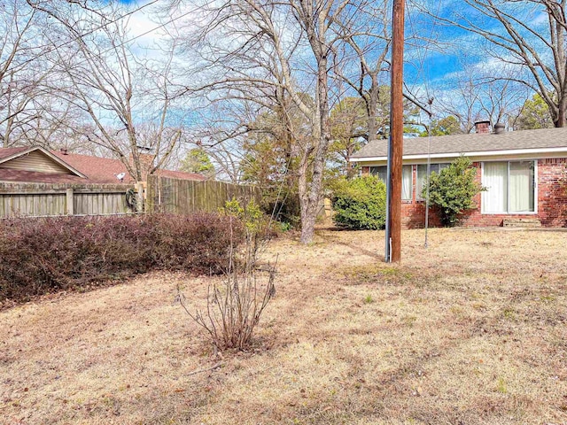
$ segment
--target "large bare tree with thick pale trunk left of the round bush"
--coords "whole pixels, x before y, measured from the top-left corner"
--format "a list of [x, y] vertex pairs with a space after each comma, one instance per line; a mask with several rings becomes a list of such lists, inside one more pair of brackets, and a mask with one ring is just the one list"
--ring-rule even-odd
[[[199, 27], [188, 46], [198, 51], [201, 81], [189, 91], [214, 103], [253, 103], [259, 113], [275, 113], [280, 133], [298, 146], [303, 243], [313, 240], [322, 197], [330, 145], [330, 68], [345, 39], [340, 28], [353, 26], [359, 7], [360, 2], [337, 0], [207, 3], [198, 4], [198, 21], [191, 23]], [[344, 25], [338, 27], [339, 21]], [[302, 114], [306, 124], [296, 127], [290, 111]]]

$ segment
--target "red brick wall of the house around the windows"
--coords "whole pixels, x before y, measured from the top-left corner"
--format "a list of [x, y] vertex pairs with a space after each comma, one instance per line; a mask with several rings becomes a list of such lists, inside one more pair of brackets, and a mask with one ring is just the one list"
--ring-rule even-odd
[[[477, 181], [481, 181], [480, 163]], [[567, 227], [567, 158], [551, 158], [538, 160], [538, 207], [537, 214], [482, 214], [481, 194], [474, 198], [478, 205], [475, 210], [464, 214], [462, 226], [501, 226], [505, 219], [540, 219], [542, 226]], [[403, 225], [406, 228], [423, 228], [425, 223], [425, 205], [416, 201], [416, 166], [414, 166], [414, 199], [402, 205]], [[439, 213], [430, 210], [429, 224], [440, 226]]]

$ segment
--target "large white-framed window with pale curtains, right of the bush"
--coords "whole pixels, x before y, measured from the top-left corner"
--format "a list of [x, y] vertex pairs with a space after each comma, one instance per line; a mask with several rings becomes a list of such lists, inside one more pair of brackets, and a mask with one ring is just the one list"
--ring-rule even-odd
[[483, 213], [535, 212], [535, 161], [483, 163]]

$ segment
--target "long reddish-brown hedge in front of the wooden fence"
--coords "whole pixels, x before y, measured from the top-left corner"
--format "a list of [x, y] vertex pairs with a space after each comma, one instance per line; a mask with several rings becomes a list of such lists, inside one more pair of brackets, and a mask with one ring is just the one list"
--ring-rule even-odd
[[222, 273], [243, 239], [220, 213], [0, 220], [0, 303], [155, 269]]

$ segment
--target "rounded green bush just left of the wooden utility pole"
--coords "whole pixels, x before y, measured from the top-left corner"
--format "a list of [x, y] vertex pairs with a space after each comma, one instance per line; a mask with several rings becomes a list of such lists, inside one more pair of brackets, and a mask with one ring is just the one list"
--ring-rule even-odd
[[338, 226], [359, 229], [384, 228], [386, 187], [377, 176], [353, 180], [340, 179], [333, 184], [331, 202]]

